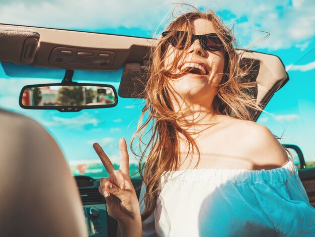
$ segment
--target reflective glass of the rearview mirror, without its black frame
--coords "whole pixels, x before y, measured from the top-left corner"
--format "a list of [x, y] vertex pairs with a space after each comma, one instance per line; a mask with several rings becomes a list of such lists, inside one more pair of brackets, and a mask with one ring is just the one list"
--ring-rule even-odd
[[22, 104], [25, 106], [85, 106], [114, 104], [112, 88], [87, 85], [54, 85], [26, 88]]

